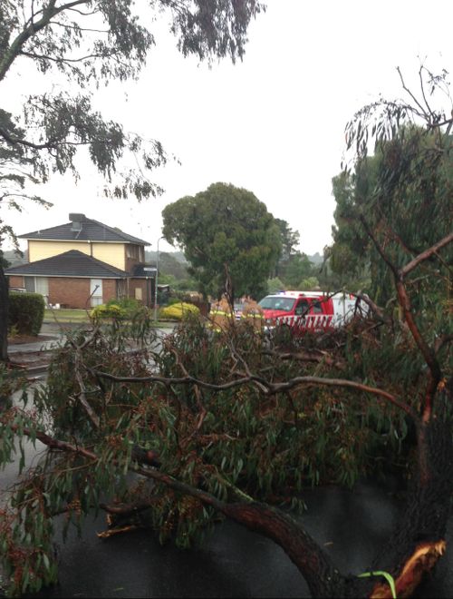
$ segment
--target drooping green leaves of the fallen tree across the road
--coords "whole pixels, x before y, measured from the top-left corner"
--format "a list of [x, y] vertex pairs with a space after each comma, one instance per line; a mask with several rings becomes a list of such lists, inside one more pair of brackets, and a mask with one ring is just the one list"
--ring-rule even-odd
[[[161, 542], [173, 539], [187, 547], [207, 533], [213, 512], [193, 497], [161, 483], [127, 483], [126, 474], [137, 467], [134, 447], [155, 452], [167, 475], [191, 486], [203, 481], [204, 489], [223, 500], [253, 496], [294, 509], [303, 508], [306, 486], [352, 485], [398, 459], [407, 432], [404, 418], [360, 391], [299, 387], [266, 396], [254, 385], [216, 391], [159, 381], [113, 383], [94, 370], [117, 377], [133, 372], [139, 378], [157, 370], [167, 380], [187, 373], [219, 385], [238, 375], [241, 356], [248, 368], [275, 382], [316, 373], [379, 384], [391, 364], [396, 365], [391, 387], [416, 398], [420, 364], [407, 356], [405, 342], [389, 347], [386, 334], [366, 328], [338, 331], [330, 341], [289, 339], [296, 350], [335, 348], [338, 365], [313, 366], [276, 358], [288, 347], [271, 341], [269, 353], [269, 339], [246, 321], [237, 323], [230, 338], [222, 332], [213, 336], [198, 318], [186, 319], [157, 352], [149, 350], [149, 324], [142, 323], [141, 338], [139, 329], [78, 331], [55, 353], [47, 386], [36, 390], [33, 408], [14, 410], [0, 423], [4, 463], [13, 447], [20, 451], [20, 430], [26, 427], [33, 440], [38, 431], [49, 430], [48, 423], [53, 436], [72, 447], [75, 438], [88, 451], [48, 454], [15, 488], [0, 518], [0, 546], [16, 594], [56, 580], [52, 515], [62, 510], [68, 525], [78, 526], [113, 498], [120, 505], [147, 503], [140, 524], [157, 529]], [[142, 352], [125, 351], [125, 338], [135, 339]], [[99, 427], [81, 400], [77, 372], [83, 373], [83, 395], [100, 417]]]

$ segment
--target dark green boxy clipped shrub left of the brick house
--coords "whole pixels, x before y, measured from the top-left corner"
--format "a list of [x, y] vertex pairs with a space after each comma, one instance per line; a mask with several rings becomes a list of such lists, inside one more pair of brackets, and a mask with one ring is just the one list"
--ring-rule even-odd
[[40, 293], [9, 293], [8, 326], [21, 335], [38, 335], [43, 326], [44, 299]]

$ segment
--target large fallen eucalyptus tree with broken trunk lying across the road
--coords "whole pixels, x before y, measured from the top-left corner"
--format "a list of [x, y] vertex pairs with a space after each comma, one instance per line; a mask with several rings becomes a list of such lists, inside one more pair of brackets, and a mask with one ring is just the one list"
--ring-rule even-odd
[[[140, 312], [130, 327], [80, 331], [55, 354], [33, 407], [1, 415], [2, 462], [24, 438], [50, 449], [2, 507], [11, 594], [56, 581], [55, 515], [80, 525], [103, 509], [111, 530], [119, 516], [130, 518], [181, 547], [220, 514], [280, 545], [313, 596], [390, 597], [380, 576], [340, 572], [300, 517], [305, 486], [352, 486], [390, 468], [407, 478], [407, 507], [370, 572], [386, 573], [398, 596], [414, 592], [444, 552], [450, 515], [453, 235], [414, 253], [399, 235], [397, 209], [421, 192], [448, 206], [448, 186], [427, 188], [425, 177], [427, 165], [449, 155], [447, 123], [441, 135], [431, 123], [428, 137], [404, 130], [381, 139], [399, 170], [389, 177], [383, 169], [377, 195], [361, 195], [361, 182], [354, 190], [357, 221], [392, 280], [375, 315], [270, 339], [246, 322], [214, 333], [191, 319], [159, 348]], [[360, 145], [363, 129], [353, 131]], [[414, 153], [403, 161], [406, 142]], [[396, 216], [381, 211], [383, 193]], [[132, 338], [141, 350], [128, 353]]]

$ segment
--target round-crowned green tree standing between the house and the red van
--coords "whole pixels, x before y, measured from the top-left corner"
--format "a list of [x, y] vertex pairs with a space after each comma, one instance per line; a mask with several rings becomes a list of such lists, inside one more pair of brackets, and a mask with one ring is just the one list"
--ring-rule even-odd
[[280, 232], [251, 191], [214, 183], [162, 211], [163, 234], [184, 250], [191, 274], [205, 292], [265, 295], [265, 281], [280, 255]]

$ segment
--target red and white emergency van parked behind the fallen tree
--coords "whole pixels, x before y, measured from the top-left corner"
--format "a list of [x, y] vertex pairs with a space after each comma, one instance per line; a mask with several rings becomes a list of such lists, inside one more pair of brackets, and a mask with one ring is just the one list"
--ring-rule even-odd
[[267, 326], [286, 324], [301, 330], [342, 327], [355, 315], [366, 315], [368, 306], [350, 293], [281, 291], [258, 302]]

